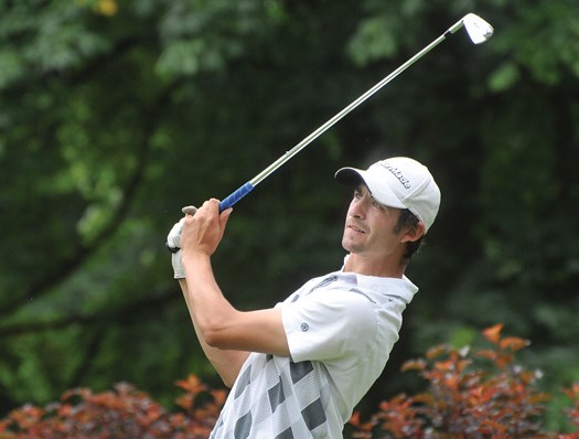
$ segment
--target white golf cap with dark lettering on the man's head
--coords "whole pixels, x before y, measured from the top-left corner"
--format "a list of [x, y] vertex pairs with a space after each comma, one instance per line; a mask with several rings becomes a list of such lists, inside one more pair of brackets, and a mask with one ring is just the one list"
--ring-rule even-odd
[[365, 183], [372, 196], [389, 207], [408, 208], [428, 232], [438, 213], [440, 190], [427, 167], [407, 157], [394, 157], [363, 171], [342, 168], [335, 179], [347, 185]]

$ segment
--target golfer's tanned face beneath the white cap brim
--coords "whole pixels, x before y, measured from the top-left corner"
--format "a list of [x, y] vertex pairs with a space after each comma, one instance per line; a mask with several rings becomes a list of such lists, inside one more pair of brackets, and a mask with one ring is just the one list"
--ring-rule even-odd
[[400, 210], [379, 204], [365, 184], [358, 185], [347, 210], [342, 246], [345, 250], [384, 260], [399, 251], [405, 231], [395, 233]]

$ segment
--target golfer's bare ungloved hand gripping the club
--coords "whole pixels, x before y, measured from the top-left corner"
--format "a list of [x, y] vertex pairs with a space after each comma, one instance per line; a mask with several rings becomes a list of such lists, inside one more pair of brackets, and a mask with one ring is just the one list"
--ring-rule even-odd
[[219, 213], [218, 200], [212, 199], [203, 203], [194, 216], [185, 215], [181, 234], [183, 253], [187, 255], [202, 253], [212, 256], [223, 238], [232, 211], [229, 207]]

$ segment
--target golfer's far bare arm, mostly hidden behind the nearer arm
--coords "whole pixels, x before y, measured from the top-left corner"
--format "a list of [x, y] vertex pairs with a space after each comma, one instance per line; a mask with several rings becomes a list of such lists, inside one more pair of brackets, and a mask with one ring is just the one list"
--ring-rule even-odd
[[195, 329], [195, 333], [203, 352], [205, 353], [207, 360], [213, 364], [213, 367], [215, 367], [225, 385], [227, 387], [232, 387], [249, 353], [245, 351], [221, 350], [210, 346], [196, 322], [186, 280], [179, 279], [179, 285], [181, 287], [181, 291], [183, 291], [183, 297], [185, 298], [189, 314], [191, 315], [193, 328]]

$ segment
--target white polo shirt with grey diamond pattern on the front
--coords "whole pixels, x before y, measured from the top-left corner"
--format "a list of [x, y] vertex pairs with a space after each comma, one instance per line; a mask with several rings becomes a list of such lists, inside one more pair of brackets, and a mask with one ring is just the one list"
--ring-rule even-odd
[[340, 438], [380, 375], [418, 288], [336, 271], [282, 303], [290, 357], [253, 353], [211, 438]]

